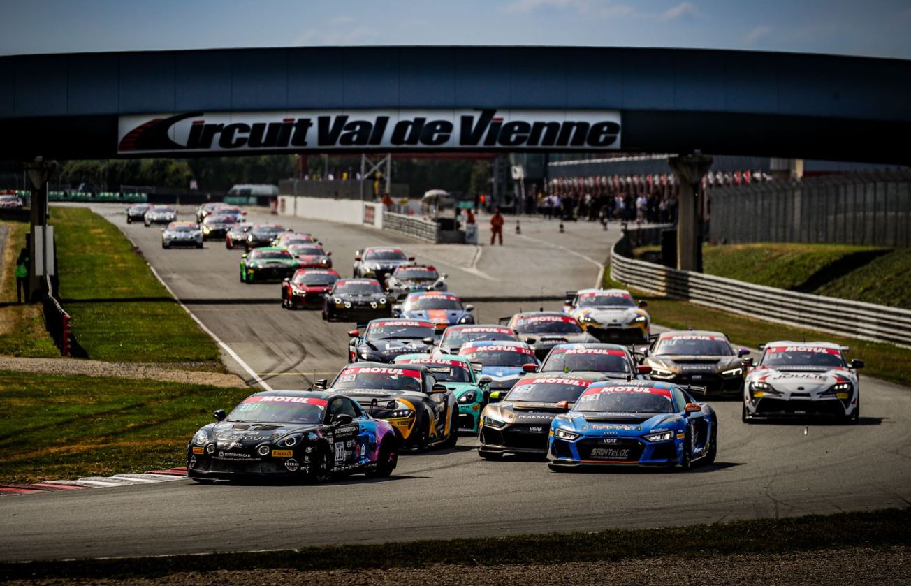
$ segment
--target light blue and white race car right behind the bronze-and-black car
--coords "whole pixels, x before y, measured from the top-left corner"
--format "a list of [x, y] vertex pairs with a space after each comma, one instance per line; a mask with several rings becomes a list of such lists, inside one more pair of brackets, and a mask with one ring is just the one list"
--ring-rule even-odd
[[540, 366], [525, 342], [466, 342], [459, 348], [458, 355], [479, 365], [481, 374], [490, 377], [488, 398], [491, 401], [506, 396], [519, 378], [536, 372]]

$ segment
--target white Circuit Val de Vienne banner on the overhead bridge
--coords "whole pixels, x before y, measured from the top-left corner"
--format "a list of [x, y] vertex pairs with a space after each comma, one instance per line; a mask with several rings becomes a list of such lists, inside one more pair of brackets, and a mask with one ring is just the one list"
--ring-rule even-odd
[[120, 118], [118, 152], [326, 149], [619, 149], [595, 110], [190, 112]]

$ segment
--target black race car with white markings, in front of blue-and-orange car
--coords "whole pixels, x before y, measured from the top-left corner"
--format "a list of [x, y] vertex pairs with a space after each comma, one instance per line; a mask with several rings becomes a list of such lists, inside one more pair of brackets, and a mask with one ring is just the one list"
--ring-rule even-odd
[[360, 334], [348, 333], [348, 362], [392, 362], [395, 356], [424, 354], [434, 348], [434, 324], [420, 320], [373, 320]]

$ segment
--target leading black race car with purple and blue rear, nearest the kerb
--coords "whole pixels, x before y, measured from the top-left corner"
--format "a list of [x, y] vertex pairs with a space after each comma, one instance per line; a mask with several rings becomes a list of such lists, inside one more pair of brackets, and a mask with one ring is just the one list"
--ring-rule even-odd
[[215, 412], [187, 446], [187, 476], [199, 483], [244, 477], [308, 478], [363, 472], [388, 477], [398, 462], [393, 427], [329, 392], [268, 391]]

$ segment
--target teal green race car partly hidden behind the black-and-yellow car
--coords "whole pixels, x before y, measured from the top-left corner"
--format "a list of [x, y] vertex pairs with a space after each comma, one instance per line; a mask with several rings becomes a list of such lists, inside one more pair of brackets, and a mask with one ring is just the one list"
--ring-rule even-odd
[[406, 354], [396, 356], [396, 365], [425, 365], [437, 383], [453, 392], [458, 405], [458, 430], [477, 433], [481, 409], [487, 404], [489, 376], [478, 376], [471, 363], [462, 356]]

